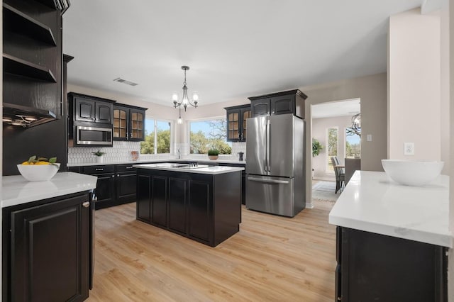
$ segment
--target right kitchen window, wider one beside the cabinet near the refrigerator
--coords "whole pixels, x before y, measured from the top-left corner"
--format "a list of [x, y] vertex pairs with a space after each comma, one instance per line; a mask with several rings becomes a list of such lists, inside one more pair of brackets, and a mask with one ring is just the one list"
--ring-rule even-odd
[[191, 154], [206, 154], [209, 149], [219, 154], [232, 154], [232, 143], [227, 142], [226, 118], [211, 118], [189, 122]]

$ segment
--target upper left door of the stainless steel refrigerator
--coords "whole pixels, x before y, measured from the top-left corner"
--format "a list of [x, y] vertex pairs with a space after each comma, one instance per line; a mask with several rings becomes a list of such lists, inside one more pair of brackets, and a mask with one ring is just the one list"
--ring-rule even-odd
[[248, 118], [247, 123], [246, 150], [248, 150], [248, 160], [246, 161], [246, 173], [266, 175], [267, 116]]

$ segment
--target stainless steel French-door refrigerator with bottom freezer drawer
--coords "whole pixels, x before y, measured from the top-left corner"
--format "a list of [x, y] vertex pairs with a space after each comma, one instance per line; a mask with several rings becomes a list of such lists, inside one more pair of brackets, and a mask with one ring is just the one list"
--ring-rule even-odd
[[293, 217], [306, 206], [304, 121], [292, 114], [248, 118], [246, 208]]

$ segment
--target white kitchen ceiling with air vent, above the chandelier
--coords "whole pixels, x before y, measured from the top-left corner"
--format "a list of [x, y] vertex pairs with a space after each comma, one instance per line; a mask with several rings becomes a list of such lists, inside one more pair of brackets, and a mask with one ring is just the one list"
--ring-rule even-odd
[[171, 106], [189, 65], [203, 106], [385, 72], [389, 16], [422, 2], [72, 1], [68, 82]]

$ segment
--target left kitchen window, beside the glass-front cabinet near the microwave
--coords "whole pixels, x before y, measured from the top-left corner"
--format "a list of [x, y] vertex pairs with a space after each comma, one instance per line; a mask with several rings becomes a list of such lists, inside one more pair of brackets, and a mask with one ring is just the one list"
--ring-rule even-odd
[[140, 142], [140, 154], [170, 153], [170, 121], [145, 118], [145, 141]]

